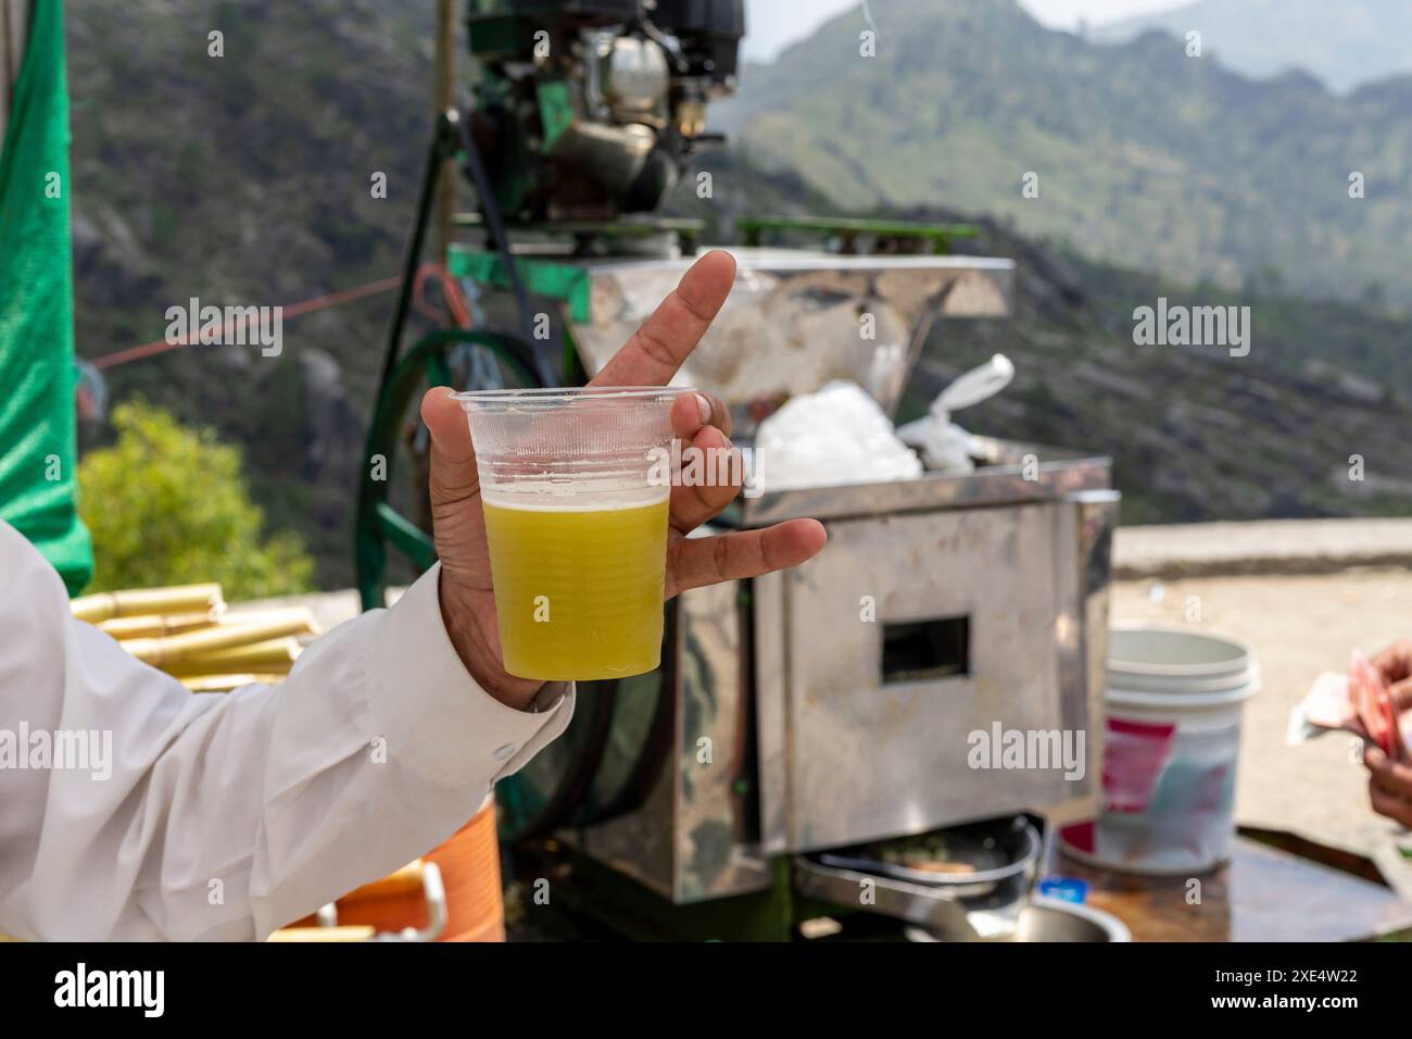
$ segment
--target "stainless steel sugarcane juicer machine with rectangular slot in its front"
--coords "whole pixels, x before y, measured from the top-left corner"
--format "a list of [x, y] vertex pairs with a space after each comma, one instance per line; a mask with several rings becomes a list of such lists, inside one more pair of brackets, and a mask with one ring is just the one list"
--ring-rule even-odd
[[[832, 379], [891, 411], [933, 322], [1010, 305], [1007, 260], [731, 252], [736, 288], [679, 382], [720, 394], [746, 444], [772, 401]], [[589, 375], [688, 263], [573, 262], [559, 312]], [[858, 335], [860, 315], [874, 338]], [[741, 499], [729, 523], [810, 516], [826, 548], [792, 571], [681, 595], [662, 669], [587, 684], [562, 745], [501, 785], [505, 835], [538, 838], [569, 864], [570, 892], [594, 888], [570, 898], [618, 922], [755, 895], [740, 927], [702, 933], [758, 936], [761, 913], [801, 915], [782, 899], [963, 929], [957, 905], [994, 902], [984, 868], [928, 885], [907, 869], [860, 874], [837, 852], [986, 820], [1028, 817], [1042, 831], [1094, 810], [1117, 509], [1106, 458], [980, 445], [969, 474]], [[1082, 776], [973, 768], [973, 734], [1008, 731], [1086, 734]], [[874, 898], [860, 905], [868, 878]], [[652, 908], [633, 908], [634, 888]], [[1005, 891], [1018, 908], [1022, 885]]]

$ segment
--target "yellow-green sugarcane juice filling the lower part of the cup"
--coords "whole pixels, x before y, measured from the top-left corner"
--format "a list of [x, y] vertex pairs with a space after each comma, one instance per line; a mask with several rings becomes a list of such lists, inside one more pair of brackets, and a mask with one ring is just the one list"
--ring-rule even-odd
[[665, 488], [647, 503], [487, 498], [484, 509], [507, 671], [546, 681], [621, 679], [661, 663]]

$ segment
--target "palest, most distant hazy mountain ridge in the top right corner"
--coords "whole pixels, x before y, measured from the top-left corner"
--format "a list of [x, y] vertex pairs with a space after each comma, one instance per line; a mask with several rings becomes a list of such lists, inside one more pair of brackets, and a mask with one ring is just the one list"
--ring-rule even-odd
[[1204, 47], [1231, 69], [1271, 76], [1303, 69], [1340, 93], [1412, 72], [1412, 4], [1406, 0], [1200, 0], [1104, 25], [1090, 38], [1127, 42], [1159, 30]]

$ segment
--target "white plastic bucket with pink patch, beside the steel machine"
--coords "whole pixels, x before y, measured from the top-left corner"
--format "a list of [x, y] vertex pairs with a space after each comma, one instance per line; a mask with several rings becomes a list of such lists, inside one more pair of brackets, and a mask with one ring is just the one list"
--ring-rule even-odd
[[1172, 875], [1230, 858], [1241, 715], [1258, 690], [1260, 664], [1244, 643], [1179, 629], [1108, 632], [1093, 859]]

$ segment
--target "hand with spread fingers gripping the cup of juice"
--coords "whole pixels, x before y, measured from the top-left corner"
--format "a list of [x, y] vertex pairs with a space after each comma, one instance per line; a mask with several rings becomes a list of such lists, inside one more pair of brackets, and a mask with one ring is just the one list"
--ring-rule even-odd
[[[706, 253], [589, 385], [665, 386], [700, 341], [734, 280], [736, 262], [729, 253]], [[480, 479], [466, 416], [450, 400], [450, 390], [441, 387], [422, 397], [422, 421], [432, 434], [429, 489], [436, 553], [442, 563], [441, 606], [446, 632], [480, 687], [522, 708], [544, 683], [515, 677], [503, 664]], [[672, 409], [672, 425], [683, 447], [730, 447], [730, 414], [710, 394], [681, 397]], [[823, 547], [823, 526], [808, 519], [716, 537], [686, 537], [724, 509], [737, 491], [734, 486], [672, 488], [666, 598], [688, 588], [794, 567]]]

